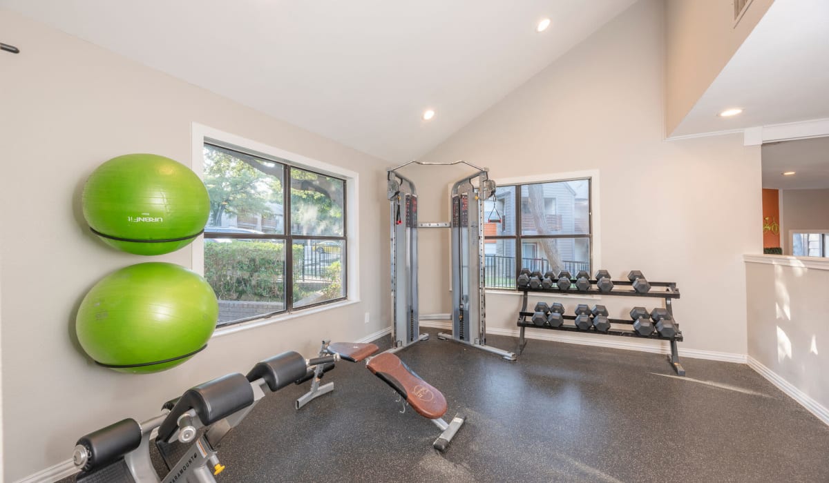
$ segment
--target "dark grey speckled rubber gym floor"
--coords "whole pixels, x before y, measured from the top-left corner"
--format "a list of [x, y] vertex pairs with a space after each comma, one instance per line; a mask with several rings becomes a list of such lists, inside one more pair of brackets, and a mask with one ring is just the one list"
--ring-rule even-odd
[[310, 383], [264, 398], [218, 481], [829, 481], [829, 427], [746, 365], [685, 358], [677, 378], [664, 355], [532, 340], [507, 362], [425, 331], [400, 358], [467, 416], [443, 455], [434, 424], [342, 361], [299, 411]]

